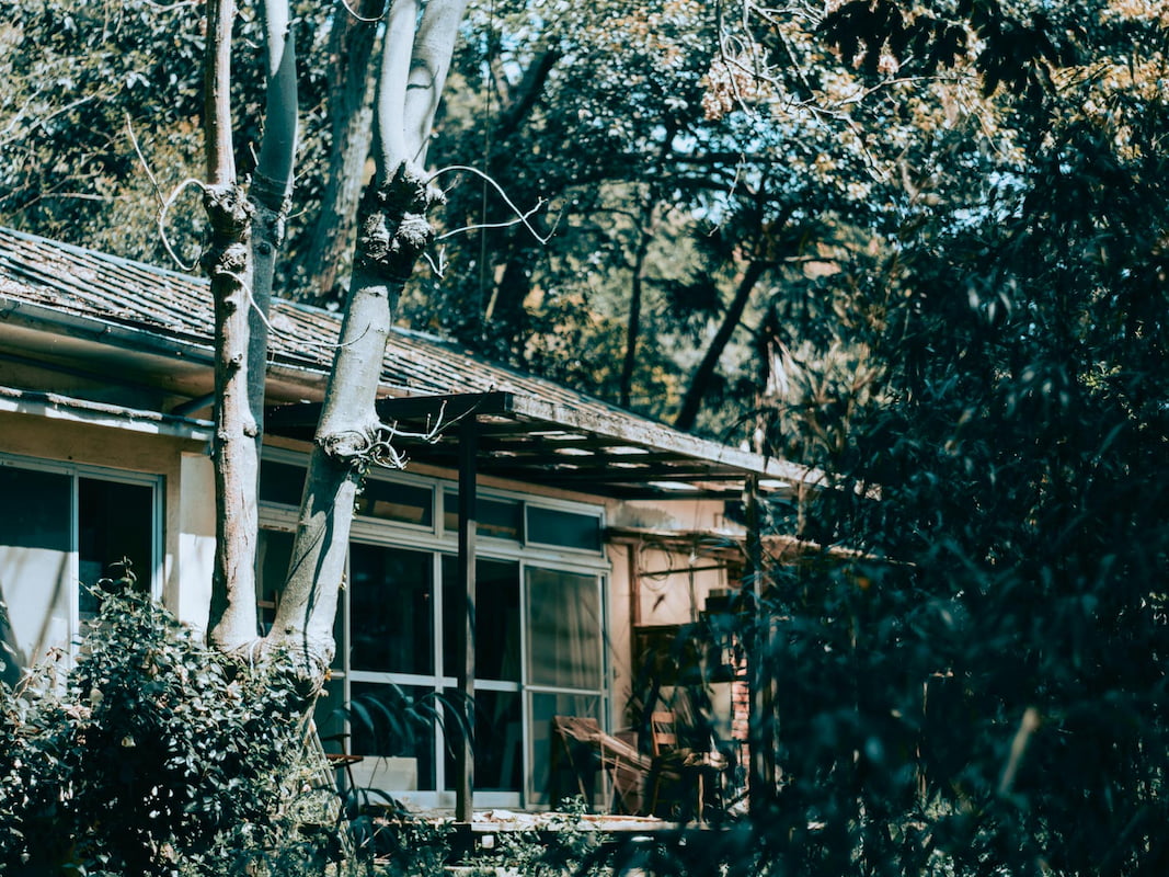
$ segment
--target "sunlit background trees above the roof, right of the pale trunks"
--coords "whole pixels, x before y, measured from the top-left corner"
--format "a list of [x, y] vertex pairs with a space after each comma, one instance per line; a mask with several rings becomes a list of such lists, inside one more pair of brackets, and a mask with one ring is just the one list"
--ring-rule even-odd
[[[458, 71], [487, 97], [443, 119], [445, 143], [482, 152], [521, 202], [549, 199], [555, 234], [450, 241], [411, 322], [738, 441], [752, 326], [774, 290], [824, 270], [842, 228], [888, 221], [941, 91], [894, 89], [892, 70], [873, 88], [798, 16], [762, 78], [767, 48], [710, 5], [513, 6], [471, 18], [483, 36]], [[452, 193], [449, 226], [506, 215], [476, 189]]]

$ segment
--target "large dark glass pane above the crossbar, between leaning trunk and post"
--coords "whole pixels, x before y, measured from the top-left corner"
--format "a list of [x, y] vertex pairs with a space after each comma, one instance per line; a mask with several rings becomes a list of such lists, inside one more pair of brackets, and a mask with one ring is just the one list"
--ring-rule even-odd
[[360, 543], [350, 546], [353, 670], [434, 672], [431, 557]]

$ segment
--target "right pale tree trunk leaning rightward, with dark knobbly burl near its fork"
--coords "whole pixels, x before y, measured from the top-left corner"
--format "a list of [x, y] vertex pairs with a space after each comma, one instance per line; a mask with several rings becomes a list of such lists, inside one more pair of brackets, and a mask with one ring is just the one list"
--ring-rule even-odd
[[378, 172], [361, 199], [340, 344], [269, 635], [269, 644], [293, 650], [299, 672], [313, 685], [324, 678], [336, 648], [333, 621], [357, 490], [369, 465], [394, 462], [392, 434], [378, 421], [374, 402], [394, 309], [434, 237], [428, 214], [442, 194], [416, 159], [426, 153], [465, 6], [466, 0], [430, 0], [421, 21], [413, 0], [389, 7], [375, 99]]

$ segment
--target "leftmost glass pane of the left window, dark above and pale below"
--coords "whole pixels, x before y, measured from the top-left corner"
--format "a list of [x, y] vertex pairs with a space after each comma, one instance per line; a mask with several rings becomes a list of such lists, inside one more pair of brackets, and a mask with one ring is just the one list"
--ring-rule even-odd
[[15, 467], [0, 467], [0, 649], [6, 681], [69, 647], [69, 589], [72, 587], [72, 478]]

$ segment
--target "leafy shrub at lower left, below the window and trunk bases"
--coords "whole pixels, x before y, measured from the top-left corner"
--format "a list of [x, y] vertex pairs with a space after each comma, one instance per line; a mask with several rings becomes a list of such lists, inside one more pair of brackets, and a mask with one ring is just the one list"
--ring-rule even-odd
[[339, 852], [313, 792], [303, 696], [148, 599], [106, 596], [64, 688], [4, 690], [4, 873], [299, 873]]

